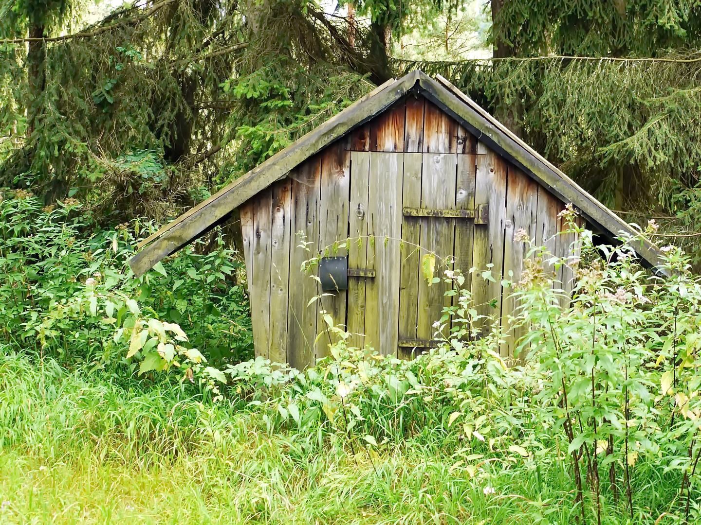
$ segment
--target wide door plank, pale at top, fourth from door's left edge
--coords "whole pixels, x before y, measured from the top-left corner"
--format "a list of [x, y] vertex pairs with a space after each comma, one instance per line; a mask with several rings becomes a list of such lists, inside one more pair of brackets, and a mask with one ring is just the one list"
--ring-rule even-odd
[[[428, 135], [427, 147], [430, 147]], [[455, 188], [458, 155], [454, 153], [424, 153], [421, 176], [422, 208], [455, 208]], [[453, 269], [455, 242], [455, 220], [451, 218], [421, 218], [421, 261], [424, 255], [435, 255], [435, 276], [438, 283], [429, 283], [425, 278], [418, 284], [418, 320], [416, 337], [431, 339], [435, 328], [433, 323], [440, 321], [444, 306], [451, 304], [451, 297], [445, 297], [449, 285], [442, 281], [447, 269]], [[421, 264], [420, 261], [420, 264]]]

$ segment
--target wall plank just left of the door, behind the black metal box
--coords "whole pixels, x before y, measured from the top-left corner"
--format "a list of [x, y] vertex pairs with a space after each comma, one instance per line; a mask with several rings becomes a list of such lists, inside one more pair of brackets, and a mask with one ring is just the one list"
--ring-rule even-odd
[[[321, 154], [321, 200], [319, 252], [322, 256], [348, 255], [348, 209], [351, 206], [351, 152], [348, 141], [341, 140]], [[346, 325], [346, 290], [325, 293], [323, 311], [332, 316], [335, 325]], [[322, 311], [320, 309], [320, 311]], [[321, 315], [321, 314], [320, 314]], [[336, 342], [323, 318], [317, 320], [316, 358], [328, 355], [329, 344]]]

